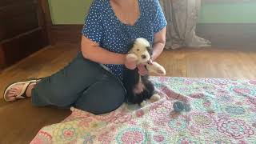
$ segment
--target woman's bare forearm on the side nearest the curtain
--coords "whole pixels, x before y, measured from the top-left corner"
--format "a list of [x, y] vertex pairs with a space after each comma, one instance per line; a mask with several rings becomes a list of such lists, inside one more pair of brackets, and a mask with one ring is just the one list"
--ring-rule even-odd
[[154, 44], [153, 44], [153, 53], [152, 61], [154, 61], [160, 54], [166, 45], [166, 27], [160, 30], [158, 33], [154, 34]]

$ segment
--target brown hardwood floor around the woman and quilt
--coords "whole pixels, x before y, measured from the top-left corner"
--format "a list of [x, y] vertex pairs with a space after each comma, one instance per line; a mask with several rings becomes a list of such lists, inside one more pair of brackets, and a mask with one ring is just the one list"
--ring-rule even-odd
[[[78, 46], [50, 46], [0, 72], [0, 92], [21, 79], [45, 77], [66, 66]], [[167, 76], [201, 78], [256, 79], [256, 50], [181, 49], [166, 50], [158, 62]], [[42, 126], [62, 121], [70, 110], [38, 108], [30, 99], [6, 103], [0, 101], [0, 143], [28, 143]]]

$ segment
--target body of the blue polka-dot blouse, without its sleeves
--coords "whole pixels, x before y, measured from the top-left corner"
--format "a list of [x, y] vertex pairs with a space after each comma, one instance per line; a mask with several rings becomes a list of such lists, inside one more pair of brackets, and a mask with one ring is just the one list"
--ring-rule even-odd
[[[139, 17], [133, 26], [121, 22], [111, 7], [110, 0], [98, 0], [101, 3], [102, 38], [99, 45], [111, 52], [126, 54], [132, 39], [146, 38], [150, 44], [154, 41], [153, 18], [157, 9], [157, 0], [138, 0]], [[105, 65], [122, 79], [123, 65]]]

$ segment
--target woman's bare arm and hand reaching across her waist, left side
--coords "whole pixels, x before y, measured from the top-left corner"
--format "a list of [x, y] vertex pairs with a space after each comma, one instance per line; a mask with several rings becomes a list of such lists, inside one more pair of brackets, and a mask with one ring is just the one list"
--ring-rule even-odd
[[134, 70], [136, 61], [126, 59], [126, 54], [117, 54], [103, 49], [97, 42], [82, 36], [81, 51], [84, 58], [101, 64], [125, 65], [128, 69]]

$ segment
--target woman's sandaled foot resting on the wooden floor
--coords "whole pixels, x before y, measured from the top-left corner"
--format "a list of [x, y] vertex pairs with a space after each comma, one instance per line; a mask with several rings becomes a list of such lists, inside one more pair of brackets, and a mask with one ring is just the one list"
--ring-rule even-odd
[[6, 88], [4, 99], [6, 102], [14, 102], [22, 98], [30, 98], [31, 92], [38, 80], [30, 80], [26, 82], [16, 82]]

